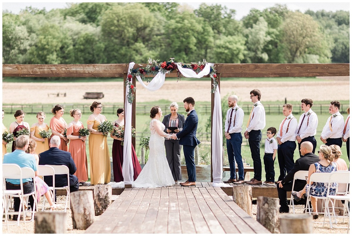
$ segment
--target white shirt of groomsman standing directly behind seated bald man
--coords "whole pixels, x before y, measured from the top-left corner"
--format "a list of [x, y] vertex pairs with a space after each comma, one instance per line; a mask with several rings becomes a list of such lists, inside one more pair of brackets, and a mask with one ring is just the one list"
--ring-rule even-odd
[[[316, 127], [318, 127], [318, 116], [312, 109], [309, 109], [309, 111], [301, 114], [296, 129], [296, 136], [300, 136], [301, 139], [314, 136], [316, 135]], [[298, 130], [300, 130], [299, 133]]]

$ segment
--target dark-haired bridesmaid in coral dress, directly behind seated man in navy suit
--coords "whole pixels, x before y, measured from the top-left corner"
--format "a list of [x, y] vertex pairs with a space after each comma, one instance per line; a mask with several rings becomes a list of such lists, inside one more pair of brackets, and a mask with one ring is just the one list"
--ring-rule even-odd
[[51, 112], [54, 114], [54, 116], [50, 120], [50, 129], [52, 133], [51, 137], [54, 135], [59, 136], [61, 139], [61, 144], [59, 146], [59, 149], [63, 151], [67, 151], [68, 150], [67, 144], [68, 142], [70, 142], [70, 140], [67, 137], [63, 136], [63, 133], [67, 128], [67, 123], [62, 117], [65, 113], [64, 107], [57, 104], [51, 109]]

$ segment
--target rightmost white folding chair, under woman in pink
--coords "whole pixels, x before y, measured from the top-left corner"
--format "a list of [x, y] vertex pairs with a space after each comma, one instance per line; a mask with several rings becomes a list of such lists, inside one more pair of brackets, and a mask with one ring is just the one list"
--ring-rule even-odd
[[[337, 218], [343, 218], [343, 220], [345, 218], [350, 219], [350, 209], [348, 208], [348, 202], [350, 201], [350, 172], [338, 171], [338, 172], [332, 173], [329, 180], [329, 185], [328, 185], [329, 188], [333, 183], [338, 183], [337, 191], [335, 191], [335, 195], [328, 195], [327, 197], [328, 197], [328, 201], [331, 202], [332, 204], [332, 212], [335, 219], [335, 224], [337, 224]], [[342, 208], [343, 210], [342, 216], [335, 215], [336, 200], [345, 201], [344, 207]], [[329, 217], [330, 228], [347, 229], [347, 231], [349, 231], [349, 225], [350, 225], [349, 223], [348, 223], [348, 227], [333, 226], [329, 207], [325, 207], [325, 210], [327, 211], [327, 215]], [[324, 222], [325, 222], [325, 218], [324, 218]]]

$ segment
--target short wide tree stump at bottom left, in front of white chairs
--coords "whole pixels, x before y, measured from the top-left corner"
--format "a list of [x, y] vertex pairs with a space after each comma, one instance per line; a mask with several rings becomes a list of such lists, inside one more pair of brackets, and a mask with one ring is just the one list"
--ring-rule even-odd
[[52, 212], [36, 212], [34, 217], [34, 233], [35, 234], [66, 234], [67, 231], [67, 213]]

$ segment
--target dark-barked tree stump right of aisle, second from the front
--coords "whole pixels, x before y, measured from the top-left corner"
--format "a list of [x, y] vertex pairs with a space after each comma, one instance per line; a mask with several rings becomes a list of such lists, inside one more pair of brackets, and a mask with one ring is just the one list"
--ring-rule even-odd
[[279, 233], [279, 199], [257, 198], [257, 221], [273, 234]]

